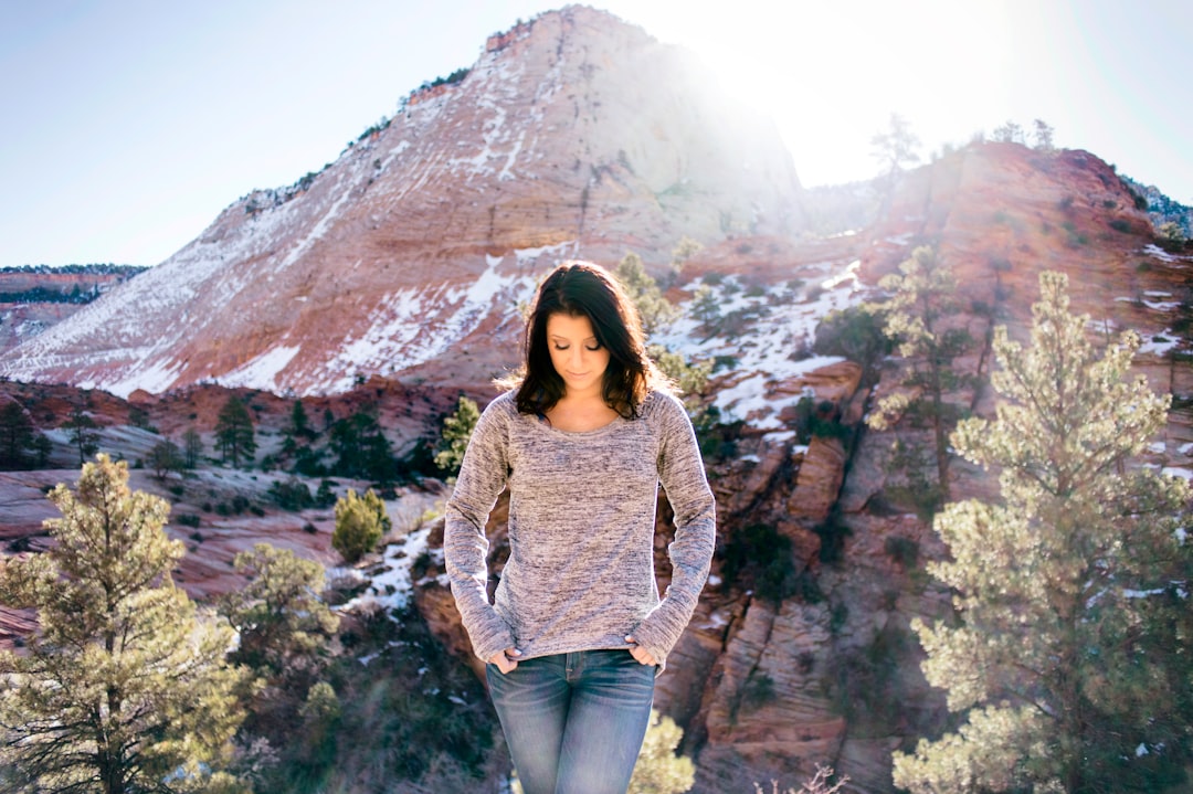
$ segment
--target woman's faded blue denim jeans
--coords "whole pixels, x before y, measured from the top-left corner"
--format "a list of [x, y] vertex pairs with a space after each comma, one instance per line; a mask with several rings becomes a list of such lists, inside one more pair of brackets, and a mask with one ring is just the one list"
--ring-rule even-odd
[[486, 668], [525, 794], [625, 794], [650, 722], [656, 668], [579, 651]]

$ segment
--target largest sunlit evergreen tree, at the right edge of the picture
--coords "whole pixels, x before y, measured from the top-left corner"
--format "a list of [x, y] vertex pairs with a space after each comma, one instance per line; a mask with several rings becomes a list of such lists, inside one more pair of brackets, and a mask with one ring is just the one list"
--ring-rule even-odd
[[1172, 790], [1191, 762], [1189, 488], [1127, 466], [1169, 397], [1126, 380], [1138, 336], [1099, 354], [1065, 277], [1040, 287], [1030, 349], [996, 329], [996, 418], [953, 434], [1001, 472], [1001, 498], [937, 516], [950, 559], [929, 572], [958, 620], [913, 625], [964, 721], [896, 753], [895, 784], [915, 794]]

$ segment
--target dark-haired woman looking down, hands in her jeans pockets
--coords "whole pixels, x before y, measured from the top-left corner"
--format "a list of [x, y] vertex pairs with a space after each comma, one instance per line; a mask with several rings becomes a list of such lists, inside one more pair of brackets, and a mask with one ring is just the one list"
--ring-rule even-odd
[[[716, 505], [692, 423], [606, 271], [565, 262], [546, 278], [525, 354], [447, 502], [447, 573], [525, 794], [624, 794], [655, 675], [709, 575]], [[662, 600], [660, 483], [675, 513]], [[490, 604], [484, 526], [506, 488], [509, 559]]]

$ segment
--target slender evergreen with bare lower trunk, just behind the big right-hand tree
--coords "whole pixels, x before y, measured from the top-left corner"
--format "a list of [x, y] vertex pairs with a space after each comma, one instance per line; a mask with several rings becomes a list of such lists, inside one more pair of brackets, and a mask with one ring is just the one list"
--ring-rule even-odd
[[972, 343], [969, 331], [952, 322], [960, 316], [957, 281], [935, 249], [921, 246], [900, 265], [898, 274], [883, 278], [879, 286], [892, 294], [874, 310], [883, 316], [883, 333], [908, 359], [910, 372], [901, 383], [907, 389], [883, 397], [867, 421], [876, 429], [894, 427], [904, 417], [913, 426], [931, 427], [937, 486], [947, 500], [948, 432], [957, 416], [945, 395], [960, 385], [953, 359]]

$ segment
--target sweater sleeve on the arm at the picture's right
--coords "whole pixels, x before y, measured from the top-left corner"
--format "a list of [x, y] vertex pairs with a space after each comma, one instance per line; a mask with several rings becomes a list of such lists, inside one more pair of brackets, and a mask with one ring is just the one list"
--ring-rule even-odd
[[661, 422], [659, 479], [675, 513], [675, 538], [667, 548], [672, 581], [662, 601], [633, 634], [639, 645], [662, 660], [691, 621], [709, 578], [717, 509], [696, 433], [682, 404], [666, 396], [656, 410]]

